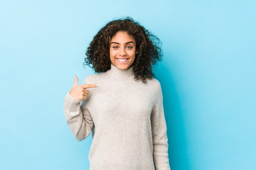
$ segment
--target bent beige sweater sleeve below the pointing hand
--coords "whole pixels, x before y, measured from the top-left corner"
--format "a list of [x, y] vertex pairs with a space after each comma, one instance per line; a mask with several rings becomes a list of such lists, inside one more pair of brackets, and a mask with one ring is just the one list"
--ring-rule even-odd
[[94, 126], [89, 110], [68, 92], [64, 99], [64, 115], [70, 131], [78, 141], [88, 137]]

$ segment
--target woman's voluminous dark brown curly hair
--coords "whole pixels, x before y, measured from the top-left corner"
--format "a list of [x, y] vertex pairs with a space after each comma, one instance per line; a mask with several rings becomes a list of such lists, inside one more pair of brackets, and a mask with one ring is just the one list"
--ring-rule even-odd
[[143, 83], [147, 83], [146, 78], [152, 79], [155, 76], [152, 71], [153, 65], [162, 61], [162, 42], [131, 17], [112, 20], [102, 27], [90, 42], [83, 65], [94, 68], [94, 72], [97, 73], [108, 71], [111, 68], [110, 40], [118, 31], [125, 31], [135, 39], [138, 53], [132, 63], [134, 79], [141, 79]]

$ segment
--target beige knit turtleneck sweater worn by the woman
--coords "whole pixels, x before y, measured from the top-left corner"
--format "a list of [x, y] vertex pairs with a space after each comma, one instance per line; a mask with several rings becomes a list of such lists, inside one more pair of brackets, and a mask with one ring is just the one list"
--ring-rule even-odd
[[159, 81], [134, 80], [133, 66], [88, 75], [86, 100], [68, 92], [64, 113], [70, 131], [81, 141], [92, 132], [90, 170], [170, 170], [167, 127]]

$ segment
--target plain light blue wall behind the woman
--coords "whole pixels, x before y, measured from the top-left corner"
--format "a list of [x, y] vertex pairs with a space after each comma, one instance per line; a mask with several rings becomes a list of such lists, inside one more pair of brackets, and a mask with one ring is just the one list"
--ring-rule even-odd
[[172, 170], [256, 169], [256, 1], [0, 2], [0, 169], [88, 170], [65, 94], [108, 21], [131, 16], [163, 42], [156, 69]]

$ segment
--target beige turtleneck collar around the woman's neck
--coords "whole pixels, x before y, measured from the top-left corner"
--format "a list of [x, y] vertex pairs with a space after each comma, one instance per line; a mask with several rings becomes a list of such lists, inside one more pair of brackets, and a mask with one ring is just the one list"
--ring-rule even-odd
[[113, 78], [127, 79], [128, 77], [134, 76], [134, 73], [132, 71], [133, 67], [134, 66], [132, 65], [130, 68], [127, 68], [126, 70], [121, 70], [111, 63], [111, 68], [107, 71], [107, 73], [110, 77]]

